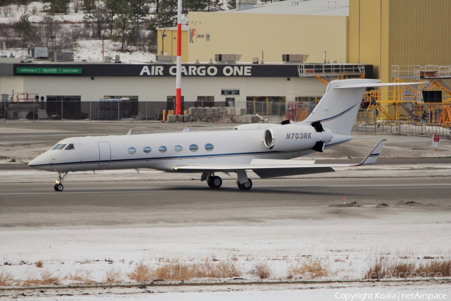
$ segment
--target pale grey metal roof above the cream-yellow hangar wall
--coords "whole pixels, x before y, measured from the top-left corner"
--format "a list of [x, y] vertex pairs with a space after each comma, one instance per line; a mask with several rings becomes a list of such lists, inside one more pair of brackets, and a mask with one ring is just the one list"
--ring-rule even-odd
[[218, 13], [349, 16], [349, 0], [286, 0], [255, 6], [249, 10], [230, 10]]

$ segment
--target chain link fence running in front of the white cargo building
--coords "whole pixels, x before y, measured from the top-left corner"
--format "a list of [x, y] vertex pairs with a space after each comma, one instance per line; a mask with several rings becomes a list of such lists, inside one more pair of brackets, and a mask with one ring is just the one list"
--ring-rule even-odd
[[[190, 107], [246, 107], [248, 114], [285, 116], [285, 103], [183, 101]], [[8, 121], [148, 121], [162, 120], [163, 110], [175, 110], [174, 101], [2, 101], [0, 120]]]

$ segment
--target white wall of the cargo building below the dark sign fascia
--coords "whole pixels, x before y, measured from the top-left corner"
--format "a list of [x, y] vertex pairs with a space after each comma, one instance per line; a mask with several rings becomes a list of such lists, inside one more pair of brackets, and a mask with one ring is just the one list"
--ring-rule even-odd
[[[12, 77], [1, 78], [3, 82]], [[89, 77], [71, 77], [69, 80], [66, 77], [27, 76], [20, 77], [20, 80], [23, 82], [23, 90], [29, 93], [38, 93], [44, 97], [81, 96], [81, 101], [99, 101], [107, 95], [138, 96], [138, 101], [166, 101], [167, 96], [175, 95], [174, 81], [164, 77], [134, 77], [132, 80], [124, 81], [121, 77], [96, 77], [94, 80]], [[240, 95], [235, 96], [237, 106], [246, 107], [247, 96], [321, 97], [325, 88], [326, 85], [316, 78], [287, 80], [285, 77], [227, 79], [184, 77], [182, 96], [185, 101], [195, 101], [198, 96], [214, 96], [214, 101], [225, 101], [225, 96], [221, 96], [221, 89], [239, 89]], [[11, 94], [11, 90], [5, 93]]]

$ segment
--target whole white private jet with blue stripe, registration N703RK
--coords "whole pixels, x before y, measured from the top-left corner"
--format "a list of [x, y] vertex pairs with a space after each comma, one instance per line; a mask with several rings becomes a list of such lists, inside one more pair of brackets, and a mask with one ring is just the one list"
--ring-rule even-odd
[[[219, 188], [217, 173], [236, 173], [237, 185], [249, 190], [247, 171], [260, 178], [333, 172], [334, 167], [373, 164], [385, 140], [357, 165], [314, 164], [289, 160], [323, 152], [351, 140], [363, 93], [380, 84], [373, 79], [334, 80], [309, 117], [301, 122], [244, 124], [233, 130], [187, 131], [67, 138], [29, 163], [38, 170], [57, 172], [55, 190], [63, 190], [69, 172], [155, 169], [172, 173], [200, 173], [200, 181]], [[418, 84], [418, 83], [407, 83]]]

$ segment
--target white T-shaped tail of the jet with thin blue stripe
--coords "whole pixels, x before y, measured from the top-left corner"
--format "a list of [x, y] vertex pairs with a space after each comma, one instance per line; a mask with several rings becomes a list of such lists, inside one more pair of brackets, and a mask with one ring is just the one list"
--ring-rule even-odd
[[380, 83], [379, 79], [333, 80], [312, 113], [301, 121], [322, 121], [332, 133], [349, 136], [357, 116], [365, 89], [368, 87], [419, 85], [421, 83]]

